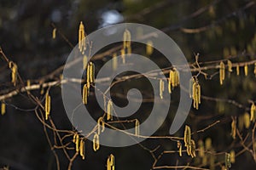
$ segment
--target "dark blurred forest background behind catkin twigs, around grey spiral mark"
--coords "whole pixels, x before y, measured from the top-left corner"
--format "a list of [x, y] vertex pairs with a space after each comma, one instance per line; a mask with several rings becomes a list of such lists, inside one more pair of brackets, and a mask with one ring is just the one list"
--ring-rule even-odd
[[[250, 0], [1, 0], [0, 47], [4, 54], [18, 65], [22, 80], [31, 80], [32, 83], [38, 84], [59, 79], [61, 72], [51, 77], [45, 76], [65, 64], [72, 46], [78, 43], [80, 21], [84, 22], [87, 34], [103, 26], [122, 22], [154, 26], [165, 31], [177, 42], [190, 64], [195, 62], [197, 53], [200, 54], [201, 66], [218, 65], [222, 59], [225, 63], [227, 59], [232, 63], [244, 63], [256, 59], [255, 17], [256, 1]], [[54, 28], [57, 28], [55, 39], [52, 38]], [[151, 58], [157, 60], [156, 55], [152, 54]], [[108, 59], [108, 56], [106, 58]], [[104, 62], [106, 59], [96, 60], [96, 67]], [[2, 56], [0, 65], [1, 96], [19, 88], [19, 85], [12, 85], [8, 63]], [[161, 61], [159, 65], [166, 67]], [[96, 68], [96, 71], [98, 69]], [[250, 111], [249, 101], [256, 102], [256, 79], [253, 69], [254, 65], [248, 65], [247, 77], [242, 65], [239, 76], [236, 76], [236, 69], [233, 69], [230, 76], [227, 74], [222, 86], [219, 84], [218, 69], [215, 67], [205, 71], [206, 77], [198, 77], [202, 95], [205, 97], [199, 110], [191, 107], [185, 124], [191, 127], [192, 132], [196, 132], [219, 121], [205, 132], [193, 135], [196, 148], [198, 141], [212, 139], [212, 146], [206, 151], [209, 159], [203, 164], [200, 156], [191, 158], [183, 153], [183, 156], [179, 157], [178, 153], [174, 152], [163, 155], [157, 166], [190, 165], [221, 169], [224, 166], [225, 152], [235, 150], [239, 154], [230, 169], [256, 168], [255, 150], [253, 152], [255, 141], [252, 140], [255, 122], [251, 123], [250, 127], [239, 129], [242, 139], [237, 136], [233, 139], [230, 135], [231, 117], [236, 118], [238, 122], [240, 116]], [[40, 89], [32, 91], [32, 94], [38, 96], [38, 99], [44, 99]], [[50, 94], [51, 118], [55, 127], [72, 130], [63, 108], [61, 88], [51, 88]], [[173, 95], [178, 96], [175, 93]], [[39, 122], [35, 115], [34, 108], [37, 105], [26, 97], [26, 93], [4, 99], [4, 102], [6, 113], [0, 116], [0, 168], [57, 169], [42, 122]], [[172, 104], [171, 107], [175, 108], [175, 97]], [[141, 111], [147, 112], [148, 105], [152, 104], [149, 102], [144, 105]], [[97, 112], [96, 107], [93, 105], [91, 110]], [[170, 119], [154, 133], [155, 136], [168, 135], [172, 123], [171, 112]], [[183, 137], [183, 128], [184, 126], [174, 136]], [[48, 132], [50, 140], [53, 141], [54, 133], [49, 129]], [[67, 139], [71, 141], [73, 138], [70, 136]], [[170, 139], [147, 139], [142, 144], [149, 150], [154, 150], [160, 145], [154, 151], [156, 157], [164, 150], [178, 150], [177, 143]], [[68, 150], [68, 154], [73, 153], [73, 150]], [[153, 168], [154, 157], [139, 144], [125, 148], [101, 146], [100, 150], [95, 152], [92, 150], [92, 143], [87, 140], [85, 160], [78, 156], [73, 161], [72, 169], [106, 169], [106, 160], [110, 153], [115, 156], [117, 170]], [[59, 157], [61, 169], [67, 169], [69, 161], [63, 150], [55, 149], [55, 154]]]

